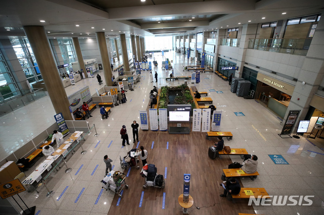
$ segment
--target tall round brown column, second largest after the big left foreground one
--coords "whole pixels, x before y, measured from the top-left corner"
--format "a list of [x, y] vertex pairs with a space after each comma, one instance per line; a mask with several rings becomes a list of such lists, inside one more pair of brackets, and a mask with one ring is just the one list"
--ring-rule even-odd
[[112, 71], [110, 67], [105, 32], [96, 32], [96, 36], [97, 36], [101, 62], [102, 62], [103, 75], [105, 77], [106, 85], [112, 86], [112, 81], [111, 81]]

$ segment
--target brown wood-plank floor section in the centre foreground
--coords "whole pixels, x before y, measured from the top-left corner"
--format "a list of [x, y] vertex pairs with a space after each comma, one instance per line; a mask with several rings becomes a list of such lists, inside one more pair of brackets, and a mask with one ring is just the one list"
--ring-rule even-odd
[[[132, 135], [131, 135], [132, 136]], [[189, 214], [238, 214], [238, 212], [255, 213], [248, 200], [235, 200], [220, 197], [223, 188], [221, 183], [222, 169], [231, 163], [229, 157], [210, 159], [208, 148], [212, 140], [206, 140], [206, 133], [191, 132], [190, 134], [169, 134], [161, 131], [139, 132], [140, 145], [148, 151], [147, 162], [157, 167], [157, 174], [164, 175], [167, 167], [166, 186], [164, 189], [148, 187], [143, 189], [144, 178], [140, 169], [131, 169], [125, 190], [118, 206], [118, 196], [112, 201], [109, 215], [115, 214], [182, 214], [178, 196], [183, 192], [183, 174], [191, 174], [190, 195], [194, 205], [189, 208]], [[153, 149], [151, 149], [154, 141]], [[226, 142], [227, 140], [225, 140]], [[167, 149], [169, 142], [169, 149]], [[136, 147], [136, 144], [135, 144]], [[127, 170], [125, 174], [127, 174]], [[142, 206], [139, 207], [141, 193], [144, 191]], [[163, 193], [166, 193], [165, 209]], [[197, 209], [200, 207], [200, 209]]]

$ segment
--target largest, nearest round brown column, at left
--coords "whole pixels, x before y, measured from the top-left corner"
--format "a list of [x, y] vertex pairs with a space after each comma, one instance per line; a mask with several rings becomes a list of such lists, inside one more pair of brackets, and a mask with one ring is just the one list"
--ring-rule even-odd
[[37, 61], [56, 114], [62, 113], [65, 120], [72, 120], [61, 77], [57, 71], [52, 49], [43, 26], [24, 26], [25, 34]]

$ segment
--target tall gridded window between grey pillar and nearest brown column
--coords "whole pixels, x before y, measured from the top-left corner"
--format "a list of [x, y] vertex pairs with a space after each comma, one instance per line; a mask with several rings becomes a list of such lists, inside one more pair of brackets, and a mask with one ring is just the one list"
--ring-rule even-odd
[[43, 80], [29, 41], [27, 39], [11, 39], [10, 41], [29, 84]]

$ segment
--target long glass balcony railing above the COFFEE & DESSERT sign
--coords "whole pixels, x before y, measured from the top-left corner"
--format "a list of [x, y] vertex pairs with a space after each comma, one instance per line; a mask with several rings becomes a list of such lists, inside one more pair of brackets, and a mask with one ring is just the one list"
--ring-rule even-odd
[[250, 49], [306, 56], [312, 38], [309, 39], [250, 39]]

